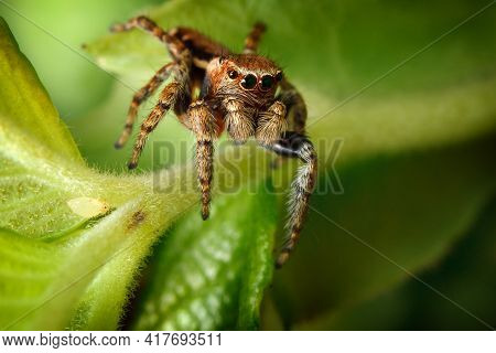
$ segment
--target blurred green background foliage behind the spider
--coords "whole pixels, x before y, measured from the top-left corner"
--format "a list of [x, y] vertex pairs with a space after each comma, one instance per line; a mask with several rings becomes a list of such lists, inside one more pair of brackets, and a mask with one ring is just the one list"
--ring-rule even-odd
[[[150, 13], [164, 26], [194, 26], [239, 50], [251, 23], [268, 23], [261, 52], [301, 88], [311, 137], [327, 141], [320, 182], [333, 168], [332, 141], [344, 141], [335, 165], [344, 193], [313, 197], [319, 213], [310, 213], [294, 257], [274, 274], [262, 329], [496, 325], [496, 8], [341, 106], [488, 1], [2, 2], [18, 11], [0, 3], [83, 156], [108, 171], [122, 171], [129, 153], [112, 148], [132, 95], [126, 85], [140, 87], [168, 60], [153, 39], [109, 36], [109, 24]], [[192, 141], [173, 119], [151, 141], [163, 139]], [[151, 149], [140, 165], [158, 168]]]

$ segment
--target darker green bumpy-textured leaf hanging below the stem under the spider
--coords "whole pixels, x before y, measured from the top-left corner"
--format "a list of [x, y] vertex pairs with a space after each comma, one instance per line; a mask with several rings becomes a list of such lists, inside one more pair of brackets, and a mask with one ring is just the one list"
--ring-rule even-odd
[[219, 199], [208, 222], [196, 214], [184, 218], [155, 250], [134, 329], [258, 328], [276, 224], [268, 183]]

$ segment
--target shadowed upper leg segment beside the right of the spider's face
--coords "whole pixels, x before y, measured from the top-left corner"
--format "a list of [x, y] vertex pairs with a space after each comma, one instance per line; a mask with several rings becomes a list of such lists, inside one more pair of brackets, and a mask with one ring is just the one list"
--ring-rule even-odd
[[281, 82], [281, 93], [277, 99], [288, 109], [289, 128], [295, 132], [305, 133], [306, 105], [298, 89], [287, 79]]

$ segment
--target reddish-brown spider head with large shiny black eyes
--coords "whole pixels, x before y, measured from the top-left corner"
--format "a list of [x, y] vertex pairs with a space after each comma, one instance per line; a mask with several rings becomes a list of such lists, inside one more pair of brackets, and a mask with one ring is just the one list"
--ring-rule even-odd
[[207, 77], [217, 96], [263, 105], [276, 95], [282, 71], [263, 56], [239, 54], [214, 58], [208, 64]]

